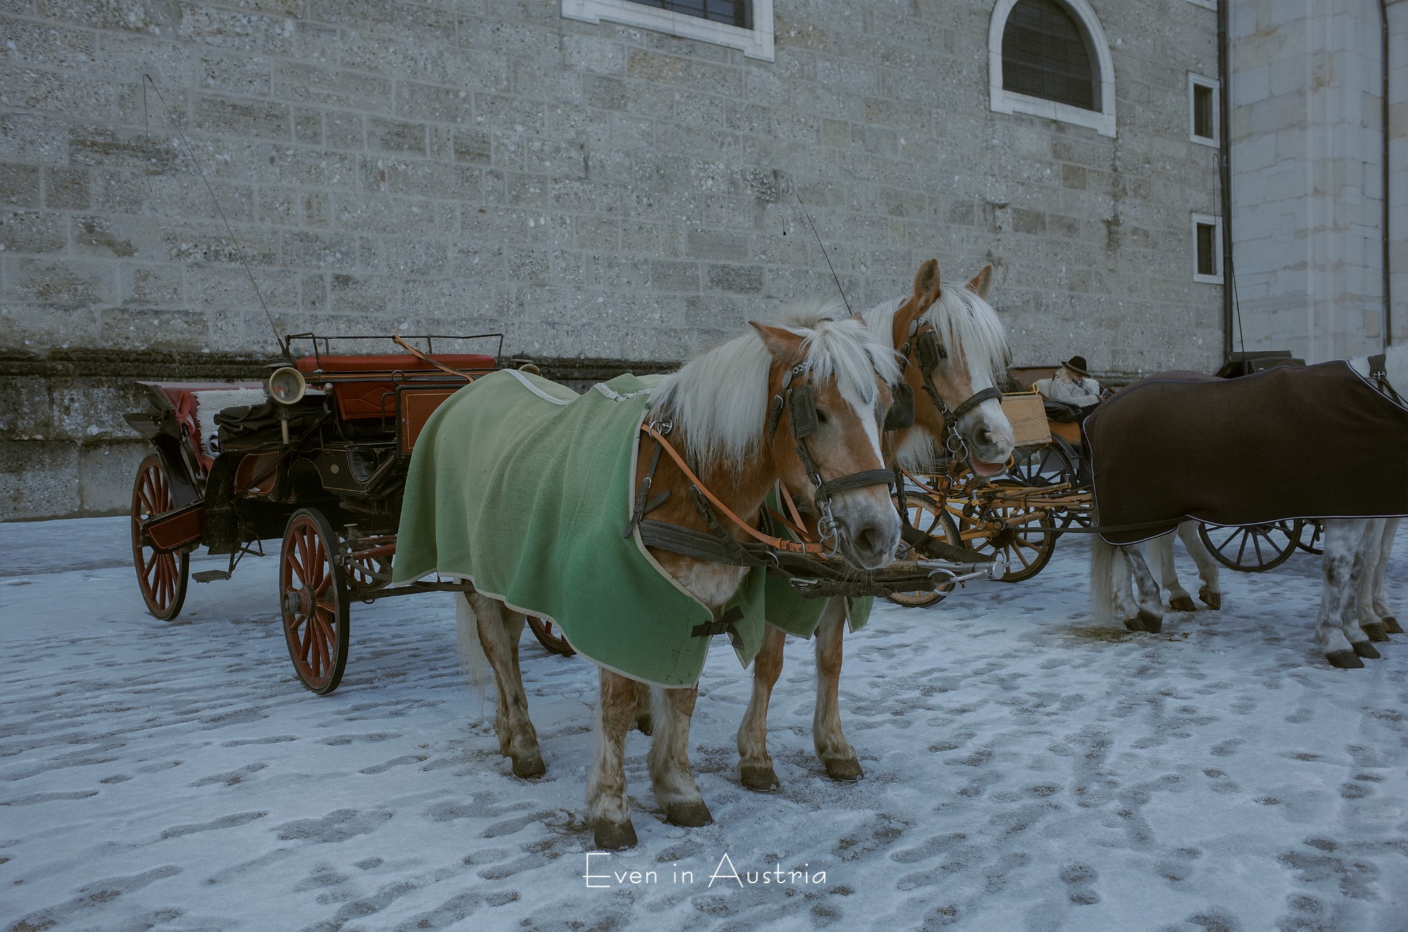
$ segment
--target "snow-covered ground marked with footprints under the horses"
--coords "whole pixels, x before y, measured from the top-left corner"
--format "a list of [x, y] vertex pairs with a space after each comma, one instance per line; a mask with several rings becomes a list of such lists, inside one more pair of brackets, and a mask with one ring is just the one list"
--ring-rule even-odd
[[[318, 698], [289, 665], [275, 559], [191, 583], [159, 622], [125, 535], [0, 525], [4, 932], [1408, 926], [1408, 638], [1331, 669], [1309, 556], [1228, 573], [1221, 612], [1163, 635], [1090, 625], [1074, 538], [1035, 580], [877, 608], [842, 677], [857, 784], [812, 753], [793, 642], [783, 788], [739, 786], [749, 679], [719, 639], [693, 732], [715, 825], [660, 821], [632, 733], [641, 845], [594, 859], [589, 888], [594, 667], [525, 636], [548, 776], [517, 780], [448, 597], [353, 605], [346, 679]], [[1390, 577], [1408, 608], [1402, 539]], [[759, 883], [710, 886], [724, 855]], [[632, 870], [656, 883], [611, 876]]]

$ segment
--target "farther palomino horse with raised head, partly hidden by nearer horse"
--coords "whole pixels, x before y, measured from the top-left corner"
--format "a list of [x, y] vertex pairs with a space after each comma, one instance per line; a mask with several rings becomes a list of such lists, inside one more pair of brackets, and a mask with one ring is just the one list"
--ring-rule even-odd
[[[1002, 414], [994, 382], [1008, 360], [1007, 336], [987, 304], [993, 282], [984, 266], [972, 282], [939, 282], [939, 263], [929, 259], [914, 276], [914, 291], [866, 311], [876, 339], [897, 348], [904, 379], [915, 396], [912, 427], [887, 435], [887, 458], [924, 469], [948, 446], [966, 451], [979, 474], [1001, 472], [1012, 453], [1012, 425]], [[922, 349], [921, 349], [922, 348]], [[931, 390], [934, 394], [931, 394]], [[832, 780], [853, 781], [860, 762], [841, 731], [838, 690], [846, 598], [832, 597], [817, 625], [817, 707], [812, 741]], [[767, 791], [780, 786], [767, 753], [767, 703], [781, 674], [787, 635], [769, 625], [753, 662], [753, 695], [738, 728], [738, 770], [745, 787]]]

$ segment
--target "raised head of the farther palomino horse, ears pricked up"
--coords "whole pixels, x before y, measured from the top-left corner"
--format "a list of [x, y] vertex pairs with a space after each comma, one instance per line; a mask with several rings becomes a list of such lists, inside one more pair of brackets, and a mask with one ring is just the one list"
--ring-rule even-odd
[[[1012, 455], [1012, 425], [994, 387], [1005, 365], [1007, 336], [987, 304], [993, 266], [967, 284], [939, 282], [929, 259], [914, 276], [914, 294], [900, 304], [891, 338], [904, 358], [904, 380], [914, 393], [914, 427], [900, 436], [901, 452], [922, 439], [950, 456], [967, 453], [973, 472], [1002, 472]], [[921, 434], [921, 438], [915, 438]]]

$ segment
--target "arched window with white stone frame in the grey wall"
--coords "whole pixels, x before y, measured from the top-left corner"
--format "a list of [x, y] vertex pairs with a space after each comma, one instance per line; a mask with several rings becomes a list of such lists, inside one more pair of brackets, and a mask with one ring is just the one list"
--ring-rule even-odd
[[1115, 135], [1114, 63], [1088, 0], [997, 0], [987, 52], [993, 111]]

